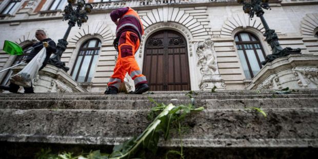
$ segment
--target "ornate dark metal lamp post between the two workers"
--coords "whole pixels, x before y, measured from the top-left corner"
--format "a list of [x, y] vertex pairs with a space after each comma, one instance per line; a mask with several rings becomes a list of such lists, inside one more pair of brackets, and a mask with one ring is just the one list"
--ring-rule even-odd
[[56, 66], [57, 68], [62, 68], [65, 71], [68, 71], [70, 68], [65, 66], [64, 62], [61, 62], [61, 56], [68, 45], [66, 41], [72, 27], [77, 23], [78, 27], [81, 27], [83, 23], [87, 22], [88, 17], [87, 13], [90, 13], [93, 7], [90, 4], [85, 4], [84, 0], [77, 0], [77, 7], [73, 8], [72, 4], [75, 3], [76, 0], [68, 0], [68, 5], [64, 9], [63, 21], [68, 21], [68, 28], [64, 34], [62, 39], [58, 39], [58, 43], [56, 45], [56, 52], [50, 58], [49, 64]]

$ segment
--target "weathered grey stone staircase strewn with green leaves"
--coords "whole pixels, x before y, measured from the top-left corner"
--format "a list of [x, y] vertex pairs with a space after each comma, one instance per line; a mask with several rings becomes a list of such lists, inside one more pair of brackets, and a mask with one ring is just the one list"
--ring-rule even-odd
[[[158, 103], [188, 104], [187, 91], [143, 95], [101, 93], [0, 94], [0, 158], [33, 158], [53, 152], [100, 149], [141, 134]], [[274, 94], [249, 90], [198, 91], [184, 125], [186, 158], [308, 158], [318, 154], [318, 89]], [[262, 108], [261, 113], [245, 109]], [[157, 155], [180, 149], [178, 136], [160, 141]]]

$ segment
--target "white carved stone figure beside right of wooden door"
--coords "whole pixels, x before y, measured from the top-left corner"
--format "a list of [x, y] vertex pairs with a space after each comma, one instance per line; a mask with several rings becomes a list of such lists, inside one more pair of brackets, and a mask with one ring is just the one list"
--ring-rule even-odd
[[224, 81], [218, 72], [216, 55], [211, 39], [207, 38], [204, 42], [197, 42], [195, 47], [198, 56], [197, 66], [201, 67], [200, 72], [202, 74], [200, 89], [211, 90], [214, 86], [219, 90], [225, 89]]

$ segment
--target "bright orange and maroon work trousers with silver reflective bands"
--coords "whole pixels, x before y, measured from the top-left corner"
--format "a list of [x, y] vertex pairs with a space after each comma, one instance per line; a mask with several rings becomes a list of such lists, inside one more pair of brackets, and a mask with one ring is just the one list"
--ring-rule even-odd
[[108, 87], [119, 89], [120, 84], [124, 82], [126, 73], [133, 79], [135, 86], [147, 83], [146, 76], [140, 71], [140, 68], [134, 57], [140, 46], [138, 35], [126, 31], [121, 34], [118, 42], [118, 58], [114, 68], [114, 74], [110, 76]]

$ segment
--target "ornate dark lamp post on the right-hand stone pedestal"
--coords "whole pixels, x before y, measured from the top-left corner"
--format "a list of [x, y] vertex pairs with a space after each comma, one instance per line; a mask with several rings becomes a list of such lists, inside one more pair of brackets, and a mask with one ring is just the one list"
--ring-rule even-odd
[[265, 41], [270, 45], [272, 48], [272, 54], [267, 55], [265, 61], [262, 62], [262, 65], [265, 65], [266, 63], [272, 62], [274, 59], [287, 56], [289, 54], [300, 54], [301, 49], [292, 49], [290, 47], [282, 48], [280, 43], [278, 42], [279, 38], [277, 37], [277, 34], [275, 33], [275, 30], [270, 29], [265, 21], [265, 18], [263, 16], [264, 9], [271, 9], [268, 5], [269, 0], [237, 0], [237, 3], [243, 4], [243, 10], [245, 13], [249, 14], [250, 18], [254, 17], [254, 14], [256, 16], [261, 18], [261, 21], [263, 23], [263, 26], [265, 28], [265, 33], [263, 34], [266, 38]]

